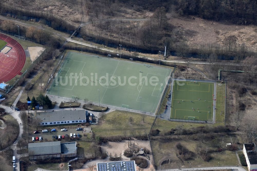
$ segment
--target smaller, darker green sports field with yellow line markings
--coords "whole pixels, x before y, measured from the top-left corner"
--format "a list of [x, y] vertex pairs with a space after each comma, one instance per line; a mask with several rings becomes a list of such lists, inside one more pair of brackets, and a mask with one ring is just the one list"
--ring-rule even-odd
[[171, 115], [172, 119], [213, 120], [214, 83], [174, 81]]

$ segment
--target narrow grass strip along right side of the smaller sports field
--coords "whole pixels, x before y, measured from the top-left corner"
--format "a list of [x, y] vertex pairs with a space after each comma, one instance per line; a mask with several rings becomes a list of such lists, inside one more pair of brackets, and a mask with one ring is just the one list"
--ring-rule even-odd
[[[221, 86], [218, 85], [219, 82], [217, 82], [216, 86], [216, 116], [215, 116], [215, 122], [216, 123], [225, 123], [225, 89], [226, 89], [226, 83], [221, 84]], [[220, 115], [222, 111], [222, 115]]]

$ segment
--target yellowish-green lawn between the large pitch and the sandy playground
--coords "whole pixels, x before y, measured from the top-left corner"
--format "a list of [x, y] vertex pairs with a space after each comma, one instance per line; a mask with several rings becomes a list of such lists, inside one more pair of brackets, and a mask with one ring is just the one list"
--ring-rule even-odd
[[[143, 122], [143, 116], [144, 122]], [[132, 117], [130, 123], [129, 118]], [[109, 137], [109, 136], [126, 136], [131, 135], [132, 131], [135, 131], [136, 135], [144, 135], [150, 131], [154, 117], [148, 115], [141, 115], [138, 113], [126, 112], [126, 111], [113, 111], [108, 113], [104, 117], [104, 121], [100, 125], [92, 125], [91, 130], [95, 132], [96, 136]]]

